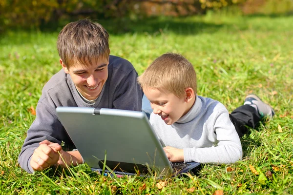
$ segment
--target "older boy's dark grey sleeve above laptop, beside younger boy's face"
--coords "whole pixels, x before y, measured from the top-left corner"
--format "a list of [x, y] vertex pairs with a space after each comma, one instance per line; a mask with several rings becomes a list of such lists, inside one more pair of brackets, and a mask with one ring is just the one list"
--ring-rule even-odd
[[115, 94], [113, 108], [123, 110], [142, 111], [142, 90], [137, 83], [137, 73], [131, 71]]

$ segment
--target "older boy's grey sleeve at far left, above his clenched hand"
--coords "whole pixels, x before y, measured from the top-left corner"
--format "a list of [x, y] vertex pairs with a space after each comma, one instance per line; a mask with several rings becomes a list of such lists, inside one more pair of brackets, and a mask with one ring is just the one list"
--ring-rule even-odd
[[[52, 108], [53, 109], [53, 108]], [[54, 111], [45, 103], [39, 102], [36, 108], [36, 119], [27, 131], [27, 137], [21, 148], [19, 164], [28, 173], [33, 173], [30, 166], [30, 159], [39, 142], [47, 139], [54, 143], [61, 144], [63, 126]]]

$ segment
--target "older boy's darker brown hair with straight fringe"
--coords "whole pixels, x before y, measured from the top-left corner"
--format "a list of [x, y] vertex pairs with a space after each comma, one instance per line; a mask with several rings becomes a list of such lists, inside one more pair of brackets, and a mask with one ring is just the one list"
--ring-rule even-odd
[[76, 62], [89, 66], [92, 58], [109, 57], [109, 34], [101, 24], [88, 19], [70, 22], [58, 35], [57, 49], [67, 68]]

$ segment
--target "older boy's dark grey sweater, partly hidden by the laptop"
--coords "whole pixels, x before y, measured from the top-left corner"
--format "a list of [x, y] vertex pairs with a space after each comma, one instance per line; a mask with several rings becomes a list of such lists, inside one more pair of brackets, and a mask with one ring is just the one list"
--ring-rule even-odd
[[39, 142], [49, 140], [64, 143], [63, 150], [75, 149], [63, 125], [56, 115], [58, 106], [100, 107], [141, 111], [142, 90], [137, 83], [137, 72], [126, 59], [110, 56], [108, 78], [101, 94], [94, 103], [86, 103], [78, 93], [69, 74], [63, 69], [55, 74], [43, 87], [42, 96], [36, 108], [36, 119], [27, 131], [21, 148], [21, 168], [32, 173], [30, 159]]

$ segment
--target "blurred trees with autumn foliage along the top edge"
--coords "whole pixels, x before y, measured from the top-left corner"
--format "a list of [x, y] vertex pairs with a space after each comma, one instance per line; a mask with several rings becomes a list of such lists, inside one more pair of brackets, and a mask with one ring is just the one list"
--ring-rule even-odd
[[0, 0], [0, 31], [13, 28], [56, 30], [62, 21], [86, 17], [140, 20], [235, 8], [244, 15], [292, 14], [293, 0]]

